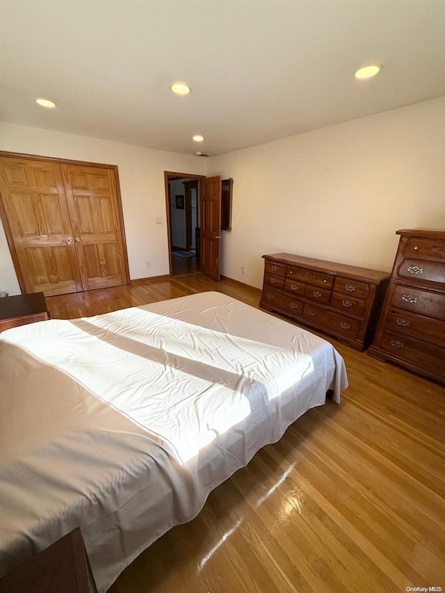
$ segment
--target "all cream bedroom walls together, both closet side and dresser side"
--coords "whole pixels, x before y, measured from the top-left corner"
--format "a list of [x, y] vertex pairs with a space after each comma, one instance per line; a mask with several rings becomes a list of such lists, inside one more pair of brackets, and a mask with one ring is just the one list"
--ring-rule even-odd
[[[445, 97], [207, 159], [14, 124], [0, 149], [118, 165], [132, 279], [168, 273], [164, 170], [233, 177], [221, 272], [252, 286], [266, 253], [386, 271], [397, 229], [445, 229]], [[18, 292], [1, 229], [0, 289]]]

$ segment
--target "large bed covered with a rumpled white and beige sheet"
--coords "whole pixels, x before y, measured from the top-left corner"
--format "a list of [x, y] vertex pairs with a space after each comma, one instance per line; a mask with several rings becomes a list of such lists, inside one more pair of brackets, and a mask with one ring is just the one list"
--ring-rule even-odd
[[0, 576], [81, 527], [99, 593], [307, 409], [343, 359], [216, 292], [0, 334]]

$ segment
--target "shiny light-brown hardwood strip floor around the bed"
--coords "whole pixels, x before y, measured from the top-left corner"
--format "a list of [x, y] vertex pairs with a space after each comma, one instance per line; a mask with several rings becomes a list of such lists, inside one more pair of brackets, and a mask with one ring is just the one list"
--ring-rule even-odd
[[[47, 299], [72, 318], [217, 290], [199, 273]], [[329, 337], [327, 339], [330, 339]], [[115, 584], [118, 593], [380, 593], [445, 588], [445, 389], [330, 339], [341, 405], [309, 410]]]

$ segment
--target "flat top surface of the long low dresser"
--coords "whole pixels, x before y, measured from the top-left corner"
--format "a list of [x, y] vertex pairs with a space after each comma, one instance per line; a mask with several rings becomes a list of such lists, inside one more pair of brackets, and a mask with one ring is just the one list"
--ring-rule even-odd
[[316, 269], [325, 274], [346, 275], [357, 279], [364, 279], [368, 282], [380, 284], [389, 279], [389, 272], [379, 270], [369, 270], [369, 268], [359, 268], [357, 266], [348, 266], [346, 263], [335, 263], [334, 261], [325, 261], [324, 259], [314, 259], [312, 257], [303, 257], [302, 255], [293, 255], [291, 253], [273, 253], [263, 256], [265, 259], [274, 259], [282, 263], [291, 263], [291, 265], [302, 268]]

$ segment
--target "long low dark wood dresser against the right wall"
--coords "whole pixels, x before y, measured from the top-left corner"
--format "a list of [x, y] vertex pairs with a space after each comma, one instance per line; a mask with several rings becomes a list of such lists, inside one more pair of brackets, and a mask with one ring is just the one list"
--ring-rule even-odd
[[263, 309], [332, 334], [356, 350], [369, 346], [389, 273], [289, 253], [263, 257]]

